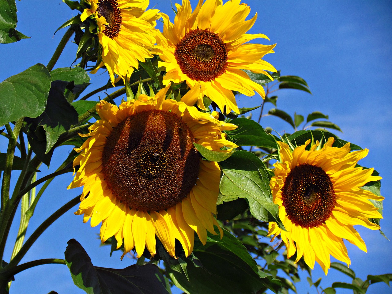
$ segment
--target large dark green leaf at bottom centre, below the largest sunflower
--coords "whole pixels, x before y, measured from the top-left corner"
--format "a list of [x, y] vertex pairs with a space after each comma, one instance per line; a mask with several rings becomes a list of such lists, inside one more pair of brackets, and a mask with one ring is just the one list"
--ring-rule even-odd
[[278, 281], [259, 270], [242, 243], [226, 230], [222, 239], [209, 234], [204, 246], [195, 241], [193, 254], [203, 267], [195, 267], [187, 259], [189, 280], [184, 274], [167, 267], [173, 283], [186, 293], [249, 294], [267, 287], [276, 293], [280, 288]]

